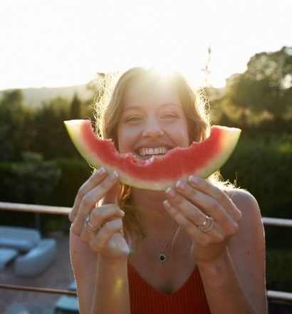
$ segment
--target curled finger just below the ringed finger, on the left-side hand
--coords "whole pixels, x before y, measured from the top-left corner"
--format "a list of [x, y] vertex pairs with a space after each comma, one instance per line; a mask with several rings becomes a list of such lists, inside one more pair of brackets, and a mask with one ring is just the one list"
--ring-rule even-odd
[[91, 239], [89, 245], [94, 251], [103, 253], [108, 248], [108, 241], [116, 232], [122, 230], [122, 219], [108, 221], [103, 228], [98, 231], [98, 234]]

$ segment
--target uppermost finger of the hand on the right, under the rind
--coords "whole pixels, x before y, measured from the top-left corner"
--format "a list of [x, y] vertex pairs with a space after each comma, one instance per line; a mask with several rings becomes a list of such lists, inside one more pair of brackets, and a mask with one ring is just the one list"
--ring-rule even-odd
[[[198, 200], [202, 200], [202, 194], [207, 194], [212, 199], [215, 199], [217, 203], [221, 204], [221, 206], [226, 209], [228, 214], [234, 218], [235, 221], [239, 221], [241, 219], [241, 211], [235, 206], [235, 204], [231, 201], [228, 195], [221, 191], [218, 187], [215, 187], [213, 184], [207, 182], [206, 180], [190, 176], [189, 184], [194, 187]], [[209, 206], [213, 206], [214, 204], [209, 204]], [[215, 205], [216, 206], [216, 205]]]

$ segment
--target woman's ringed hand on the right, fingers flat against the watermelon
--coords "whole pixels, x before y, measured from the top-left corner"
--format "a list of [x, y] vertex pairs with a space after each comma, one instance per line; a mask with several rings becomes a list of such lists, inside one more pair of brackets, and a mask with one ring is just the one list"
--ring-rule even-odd
[[[165, 209], [192, 238], [192, 259], [197, 265], [216, 261], [239, 229], [241, 211], [228, 195], [199, 177], [178, 181], [165, 192]], [[209, 218], [211, 217], [211, 218]]]

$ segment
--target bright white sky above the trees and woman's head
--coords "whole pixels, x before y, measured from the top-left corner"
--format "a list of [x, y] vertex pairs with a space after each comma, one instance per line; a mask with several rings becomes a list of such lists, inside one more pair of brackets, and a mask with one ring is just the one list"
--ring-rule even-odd
[[157, 66], [220, 87], [255, 53], [292, 46], [291, 0], [1, 0], [0, 90], [86, 84]]

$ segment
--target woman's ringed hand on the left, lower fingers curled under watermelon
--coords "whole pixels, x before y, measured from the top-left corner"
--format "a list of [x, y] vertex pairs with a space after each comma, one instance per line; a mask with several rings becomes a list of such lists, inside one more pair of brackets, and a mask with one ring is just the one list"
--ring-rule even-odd
[[[130, 251], [122, 232], [125, 213], [115, 204], [118, 181], [116, 172], [107, 175], [103, 168], [98, 169], [80, 187], [69, 214], [73, 234], [80, 236], [105, 261], [124, 260]], [[101, 199], [103, 204], [96, 207]]]

